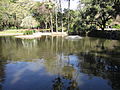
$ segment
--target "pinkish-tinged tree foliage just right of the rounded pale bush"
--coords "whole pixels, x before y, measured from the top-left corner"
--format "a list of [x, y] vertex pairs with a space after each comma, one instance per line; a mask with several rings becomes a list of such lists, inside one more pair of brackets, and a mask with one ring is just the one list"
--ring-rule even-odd
[[37, 2], [32, 9], [33, 17], [39, 22], [40, 28], [50, 28], [50, 13], [53, 13], [52, 2]]

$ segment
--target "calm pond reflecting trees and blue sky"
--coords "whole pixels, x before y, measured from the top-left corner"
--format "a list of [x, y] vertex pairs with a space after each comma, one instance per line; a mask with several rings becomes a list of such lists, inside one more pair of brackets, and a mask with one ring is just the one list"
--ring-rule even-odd
[[0, 37], [0, 90], [120, 90], [120, 41]]

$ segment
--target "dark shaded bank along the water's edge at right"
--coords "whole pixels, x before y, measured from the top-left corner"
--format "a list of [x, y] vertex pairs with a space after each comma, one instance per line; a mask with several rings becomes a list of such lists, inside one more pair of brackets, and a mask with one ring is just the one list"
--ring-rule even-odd
[[88, 37], [96, 37], [103, 38], [109, 40], [120, 40], [120, 30], [91, 30], [91, 31], [78, 31], [78, 32], [70, 32], [69, 35], [79, 35], [79, 36], [88, 36]]

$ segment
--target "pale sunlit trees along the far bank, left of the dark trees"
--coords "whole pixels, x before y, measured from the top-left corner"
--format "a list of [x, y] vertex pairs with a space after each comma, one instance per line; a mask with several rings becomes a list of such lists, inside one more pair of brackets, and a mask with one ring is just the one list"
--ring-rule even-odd
[[[68, 1], [70, 3], [70, 1]], [[61, 0], [1, 0], [0, 29], [42, 28], [62, 31], [67, 28], [68, 9], [62, 10]], [[70, 12], [75, 12], [71, 10]], [[66, 27], [66, 28], [65, 28]]]

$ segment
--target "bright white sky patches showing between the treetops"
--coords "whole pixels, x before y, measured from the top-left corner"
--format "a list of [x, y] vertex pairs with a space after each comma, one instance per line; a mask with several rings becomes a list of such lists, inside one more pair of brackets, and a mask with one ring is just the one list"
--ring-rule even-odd
[[[34, 0], [34, 1], [43, 1], [43, 0]], [[45, 1], [45, 0], [44, 0]], [[62, 8], [68, 8], [68, 2], [67, 0], [61, 0], [62, 1]], [[71, 0], [70, 1], [70, 9], [72, 10], [76, 10], [77, 9], [77, 5], [78, 5], [79, 0]]]

